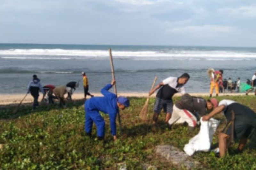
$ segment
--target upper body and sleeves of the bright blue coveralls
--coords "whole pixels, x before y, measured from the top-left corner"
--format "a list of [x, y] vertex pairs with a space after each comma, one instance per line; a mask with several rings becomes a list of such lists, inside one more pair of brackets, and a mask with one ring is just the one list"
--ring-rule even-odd
[[108, 114], [110, 120], [111, 135], [116, 135], [116, 114], [119, 113], [116, 94], [109, 92], [111, 84], [106, 85], [101, 89], [104, 97], [93, 97], [86, 101], [86, 110], [98, 110]]

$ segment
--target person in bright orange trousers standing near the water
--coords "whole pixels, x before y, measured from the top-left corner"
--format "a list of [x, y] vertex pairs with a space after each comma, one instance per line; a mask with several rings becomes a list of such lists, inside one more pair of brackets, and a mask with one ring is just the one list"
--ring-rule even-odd
[[213, 89], [215, 89], [216, 96], [219, 95], [219, 83], [222, 85], [223, 70], [213, 71], [211, 75], [210, 97], [212, 97]]

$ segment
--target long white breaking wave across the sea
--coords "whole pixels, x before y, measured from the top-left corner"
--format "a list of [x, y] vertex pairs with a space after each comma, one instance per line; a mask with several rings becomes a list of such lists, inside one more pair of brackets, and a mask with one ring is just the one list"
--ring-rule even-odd
[[[108, 50], [78, 49], [8, 49], [0, 50], [5, 59], [103, 59], [109, 57]], [[15, 56], [13, 56], [15, 55]], [[33, 56], [31, 56], [33, 55]], [[256, 53], [244, 51], [170, 50], [162, 51], [112, 51], [114, 58], [135, 60], [251, 60]], [[51, 57], [49, 57], [51, 56]], [[68, 56], [68, 57], [67, 57]]]

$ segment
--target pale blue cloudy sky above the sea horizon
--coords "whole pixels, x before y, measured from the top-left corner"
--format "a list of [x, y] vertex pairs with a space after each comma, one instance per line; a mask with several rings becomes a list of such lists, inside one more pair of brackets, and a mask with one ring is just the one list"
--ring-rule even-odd
[[256, 47], [256, 1], [2, 0], [1, 43]]

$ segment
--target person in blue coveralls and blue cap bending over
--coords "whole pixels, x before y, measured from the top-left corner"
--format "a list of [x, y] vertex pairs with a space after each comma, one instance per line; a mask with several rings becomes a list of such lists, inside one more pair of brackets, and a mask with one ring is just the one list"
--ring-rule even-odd
[[93, 97], [86, 100], [84, 103], [85, 110], [85, 125], [84, 130], [86, 135], [91, 136], [92, 124], [95, 123], [97, 127], [98, 139], [104, 139], [105, 135], [105, 121], [101, 117], [99, 111], [108, 114], [110, 120], [110, 129], [113, 139], [116, 140], [116, 115], [119, 114], [119, 109], [129, 107], [130, 102], [126, 97], [117, 97], [116, 94], [108, 90], [115, 85], [116, 81], [112, 80], [111, 84], [106, 85], [101, 89], [104, 97]]

